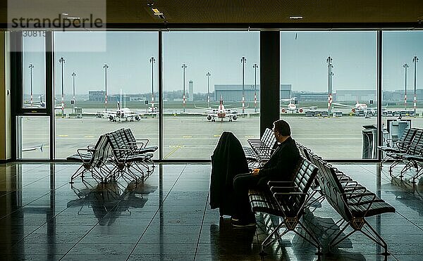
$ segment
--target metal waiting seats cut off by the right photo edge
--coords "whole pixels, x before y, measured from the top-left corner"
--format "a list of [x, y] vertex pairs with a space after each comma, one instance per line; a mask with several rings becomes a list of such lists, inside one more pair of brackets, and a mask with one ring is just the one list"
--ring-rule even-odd
[[[403, 178], [404, 174], [411, 170], [412, 183], [415, 184], [423, 174], [423, 129], [407, 128], [398, 141], [393, 143], [393, 146], [379, 146], [379, 150], [385, 153], [382, 164], [388, 160], [393, 160], [389, 166], [389, 173], [391, 177]], [[393, 174], [393, 168], [399, 164], [404, 164], [399, 174]], [[412, 170], [414, 169], [414, 171]]]

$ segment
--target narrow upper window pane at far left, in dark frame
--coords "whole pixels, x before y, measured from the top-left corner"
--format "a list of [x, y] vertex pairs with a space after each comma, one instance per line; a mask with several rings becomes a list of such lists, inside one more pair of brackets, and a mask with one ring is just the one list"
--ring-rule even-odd
[[23, 108], [45, 108], [45, 32], [23, 32]]

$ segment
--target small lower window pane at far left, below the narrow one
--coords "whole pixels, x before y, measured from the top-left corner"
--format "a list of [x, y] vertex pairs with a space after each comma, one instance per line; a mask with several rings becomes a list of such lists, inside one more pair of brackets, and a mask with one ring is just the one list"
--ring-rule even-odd
[[50, 159], [50, 118], [18, 116], [18, 159]]

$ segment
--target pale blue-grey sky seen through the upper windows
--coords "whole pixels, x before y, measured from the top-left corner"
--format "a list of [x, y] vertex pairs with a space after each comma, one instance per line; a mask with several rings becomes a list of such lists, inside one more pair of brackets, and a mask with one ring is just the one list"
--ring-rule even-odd
[[[296, 34], [296, 37], [295, 37]], [[56, 32], [56, 92], [61, 92], [59, 58], [64, 67], [65, 93], [72, 92], [72, 72], [77, 76], [77, 94], [104, 89], [104, 63], [108, 63], [108, 91], [126, 94], [151, 91], [149, 58], [158, 58], [157, 32]], [[206, 73], [214, 84], [240, 84], [245, 56], [245, 84], [254, 84], [253, 63], [259, 63], [259, 32], [164, 32], [164, 90], [182, 89], [182, 63], [188, 68], [185, 87], [194, 81], [195, 92], [207, 91]], [[103, 37], [103, 38], [102, 38]], [[33, 87], [38, 94], [44, 86], [42, 37], [26, 37], [24, 55], [25, 93], [29, 94], [33, 63]], [[104, 51], [104, 43], [106, 50]], [[66, 50], [66, 51], [63, 51]], [[327, 91], [326, 58], [333, 58], [333, 89], [376, 88], [376, 32], [281, 32], [281, 83], [294, 91]], [[384, 32], [384, 89], [403, 89], [403, 63], [409, 63], [408, 88], [413, 87], [412, 57], [418, 73], [423, 61], [423, 32]], [[421, 67], [421, 66], [420, 66]], [[154, 91], [157, 91], [157, 63], [154, 64]], [[259, 69], [257, 82], [259, 82]]]

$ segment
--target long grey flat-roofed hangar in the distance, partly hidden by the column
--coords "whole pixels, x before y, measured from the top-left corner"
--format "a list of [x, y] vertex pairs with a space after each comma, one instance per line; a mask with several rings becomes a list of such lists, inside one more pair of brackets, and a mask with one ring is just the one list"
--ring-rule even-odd
[[[244, 84], [245, 101], [254, 101], [254, 95], [257, 91], [257, 101], [260, 100], [260, 84]], [[281, 98], [291, 97], [291, 84], [281, 84]], [[242, 101], [243, 85], [242, 84], [214, 84], [214, 100], [219, 101], [220, 97], [223, 101]]]

